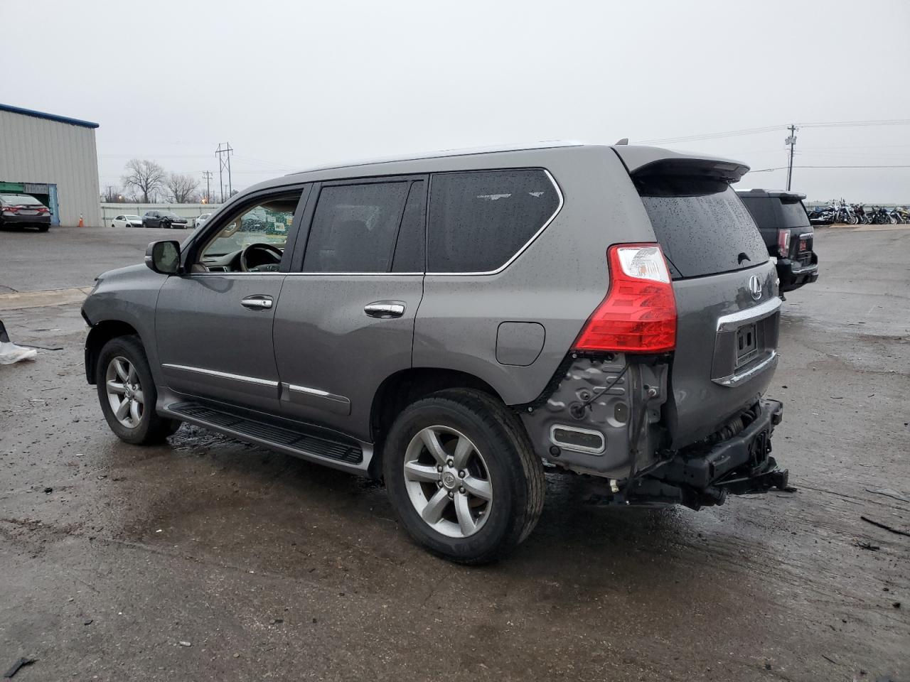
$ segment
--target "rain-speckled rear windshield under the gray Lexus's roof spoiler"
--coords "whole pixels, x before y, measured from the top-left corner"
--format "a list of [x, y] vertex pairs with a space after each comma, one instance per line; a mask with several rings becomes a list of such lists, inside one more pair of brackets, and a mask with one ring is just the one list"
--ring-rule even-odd
[[743, 270], [768, 260], [749, 211], [723, 180], [634, 178], [674, 279]]

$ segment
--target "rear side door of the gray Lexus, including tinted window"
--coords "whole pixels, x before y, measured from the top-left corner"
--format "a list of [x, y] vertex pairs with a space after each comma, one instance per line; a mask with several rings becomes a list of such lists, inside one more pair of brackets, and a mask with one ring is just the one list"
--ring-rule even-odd
[[369, 441], [373, 396], [411, 366], [426, 176], [314, 188], [275, 316], [281, 412]]

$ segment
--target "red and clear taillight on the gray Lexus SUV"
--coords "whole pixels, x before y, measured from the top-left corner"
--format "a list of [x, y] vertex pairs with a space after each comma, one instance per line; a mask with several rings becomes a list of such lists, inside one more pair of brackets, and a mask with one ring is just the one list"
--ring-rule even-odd
[[676, 297], [661, 247], [623, 244], [607, 252], [610, 289], [575, 340], [575, 350], [663, 353], [676, 347]]

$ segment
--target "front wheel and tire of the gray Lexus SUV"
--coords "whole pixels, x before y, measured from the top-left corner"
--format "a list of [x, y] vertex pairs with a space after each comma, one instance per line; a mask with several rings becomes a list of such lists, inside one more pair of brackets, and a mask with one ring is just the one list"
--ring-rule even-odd
[[[116, 365], [123, 371], [118, 371]], [[159, 416], [155, 411], [157, 388], [138, 336], [116, 336], [102, 347], [95, 381], [107, 426], [120, 440], [136, 446], [160, 443], [167, 436], [173, 436], [180, 427], [176, 419]], [[109, 381], [119, 388], [110, 391]], [[137, 386], [138, 390], [132, 386]], [[129, 405], [123, 419], [119, 418], [112, 405], [116, 399], [138, 403], [136, 411]]]

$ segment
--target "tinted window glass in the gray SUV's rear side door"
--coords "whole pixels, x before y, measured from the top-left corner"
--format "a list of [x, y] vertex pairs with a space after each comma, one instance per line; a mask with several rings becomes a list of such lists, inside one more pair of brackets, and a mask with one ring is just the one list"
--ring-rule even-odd
[[389, 272], [409, 183], [326, 186], [309, 230], [305, 272]]

